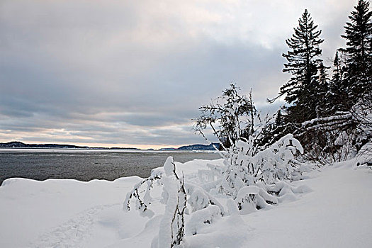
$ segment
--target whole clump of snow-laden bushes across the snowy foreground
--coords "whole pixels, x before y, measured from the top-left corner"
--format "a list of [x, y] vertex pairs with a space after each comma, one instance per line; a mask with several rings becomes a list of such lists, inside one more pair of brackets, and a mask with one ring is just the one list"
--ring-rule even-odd
[[[239, 139], [227, 150], [223, 164], [208, 164], [208, 169], [201, 169], [189, 181], [176, 173], [176, 164], [169, 157], [163, 169], [154, 170], [128, 193], [124, 209], [135, 205], [142, 215], [153, 218], [159, 214], [151, 209], [155, 200], [165, 205], [152, 248], [183, 247], [185, 235], [196, 235], [226, 215], [269, 208], [286, 193], [300, 191], [286, 182], [300, 179], [303, 172], [294, 157], [298, 152], [303, 148], [293, 135], [265, 150], [257, 150], [253, 138]], [[152, 196], [153, 191], [157, 197]], [[225, 198], [222, 203], [227, 210], [221, 198]]]

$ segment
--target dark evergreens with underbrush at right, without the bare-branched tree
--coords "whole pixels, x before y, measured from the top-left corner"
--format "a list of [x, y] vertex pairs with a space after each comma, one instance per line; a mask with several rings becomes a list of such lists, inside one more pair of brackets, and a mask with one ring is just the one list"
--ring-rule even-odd
[[287, 104], [276, 116], [276, 134], [293, 133], [308, 159], [325, 162], [329, 155], [333, 162], [346, 159], [371, 140], [368, 129], [361, 127], [359, 111], [359, 106], [371, 102], [371, 15], [369, 2], [359, 0], [344, 26], [346, 47], [335, 51], [329, 67], [321, 58], [322, 30], [307, 10], [286, 40], [289, 50], [283, 57], [288, 62], [283, 72], [291, 79], [278, 94]]

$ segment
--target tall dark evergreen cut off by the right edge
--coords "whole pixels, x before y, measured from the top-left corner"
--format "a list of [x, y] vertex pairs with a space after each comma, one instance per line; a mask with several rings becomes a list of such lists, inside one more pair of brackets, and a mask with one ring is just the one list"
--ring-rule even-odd
[[[372, 12], [369, 2], [359, 0], [346, 23], [346, 84], [350, 105], [355, 103], [361, 94], [371, 90], [372, 67]], [[350, 106], [349, 106], [350, 107]]]

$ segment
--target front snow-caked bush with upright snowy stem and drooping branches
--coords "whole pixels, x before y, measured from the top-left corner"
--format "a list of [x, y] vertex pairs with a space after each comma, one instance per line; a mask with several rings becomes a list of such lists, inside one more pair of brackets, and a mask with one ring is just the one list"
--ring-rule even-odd
[[[155, 171], [134, 186], [125, 198], [123, 209], [129, 211], [135, 205], [142, 216], [154, 217], [150, 205], [154, 203], [151, 192], [155, 187], [162, 188], [159, 203], [165, 205], [159, 235], [155, 237], [157, 247], [176, 247], [181, 244], [185, 235], [185, 214], [191, 215], [188, 232], [196, 233], [198, 227], [210, 224], [216, 215], [224, 213], [222, 205], [210, 193], [201, 186], [186, 183], [184, 177], [176, 173], [173, 157], [167, 158], [163, 171]], [[199, 218], [201, 216], [203, 218]]]

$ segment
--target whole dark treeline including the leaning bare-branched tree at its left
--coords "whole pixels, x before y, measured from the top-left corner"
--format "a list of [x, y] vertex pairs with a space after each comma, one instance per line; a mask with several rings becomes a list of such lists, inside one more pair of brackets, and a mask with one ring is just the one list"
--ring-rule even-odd
[[[369, 2], [359, 0], [344, 25], [346, 47], [337, 49], [333, 64], [327, 65], [322, 60], [322, 30], [305, 10], [282, 55], [287, 60], [283, 72], [291, 74], [291, 79], [276, 98], [268, 100], [286, 101], [276, 115], [262, 120], [252, 92], [240, 96], [232, 84], [215, 101], [201, 106], [195, 129], [204, 135], [210, 126], [222, 149], [239, 138], [264, 149], [292, 133], [305, 148], [306, 159], [312, 161], [332, 163], [360, 154], [372, 141], [371, 15]], [[254, 128], [257, 119], [259, 128]]]

